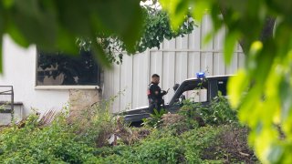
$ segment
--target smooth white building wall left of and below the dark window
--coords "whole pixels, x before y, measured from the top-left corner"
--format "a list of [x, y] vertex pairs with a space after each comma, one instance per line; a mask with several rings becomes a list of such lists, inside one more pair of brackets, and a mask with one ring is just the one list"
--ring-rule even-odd
[[[31, 108], [40, 112], [60, 109], [68, 101], [68, 90], [36, 90], [36, 46], [21, 48], [4, 36], [3, 68], [0, 86], [13, 86], [15, 101], [24, 103], [24, 113]], [[1, 99], [0, 99], [1, 100]]]

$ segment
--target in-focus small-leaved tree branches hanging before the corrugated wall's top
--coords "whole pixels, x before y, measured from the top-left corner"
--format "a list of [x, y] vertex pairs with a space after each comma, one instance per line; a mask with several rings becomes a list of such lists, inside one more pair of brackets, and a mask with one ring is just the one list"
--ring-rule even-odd
[[84, 50], [89, 51], [91, 46], [100, 44], [102, 49], [106, 52], [110, 63], [120, 64], [122, 62], [123, 54], [133, 55], [137, 52], [144, 52], [147, 48], [157, 47], [164, 39], [171, 40], [177, 36], [184, 36], [193, 31], [194, 22], [189, 15], [183, 19], [183, 23], [178, 26], [178, 30], [173, 30], [170, 26], [169, 15], [163, 11], [159, 5], [141, 5], [142, 21], [141, 37], [134, 46], [134, 51], [128, 51], [125, 42], [120, 36], [96, 36], [97, 39], [90, 40], [88, 38], [78, 38], [78, 46]]

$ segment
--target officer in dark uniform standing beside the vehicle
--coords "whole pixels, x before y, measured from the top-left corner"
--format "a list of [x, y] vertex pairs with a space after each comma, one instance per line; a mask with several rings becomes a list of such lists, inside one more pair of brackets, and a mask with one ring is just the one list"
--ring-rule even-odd
[[158, 112], [161, 111], [162, 104], [164, 105], [162, 97], [167, 94], [165, 90], [162, 90], [158, 86], [160, 83], [160, 77], [157, 74], [153, 74], [151, 77], [151, 84], [148, 86], [148, 100], [149, 100], [149, 109], [151, 113], [154, 113], [153, 109], [156, 108]]

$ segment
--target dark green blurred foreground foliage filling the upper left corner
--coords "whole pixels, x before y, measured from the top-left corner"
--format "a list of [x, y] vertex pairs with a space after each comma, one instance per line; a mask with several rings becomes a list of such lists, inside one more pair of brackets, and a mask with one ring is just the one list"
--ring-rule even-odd
[[[119, 36], [125, 48], [133, 52], [141, 37], [142, 20], [140, 1], [0, 2], [0, 36], [7, 34], [20, 46], [36, 44], [50, 52], [78, 53], [76, 38], [95, 40], [97, 35]], [[92, 46], [92, 50], [100, 63], [109, 66], [101, 44]]]

